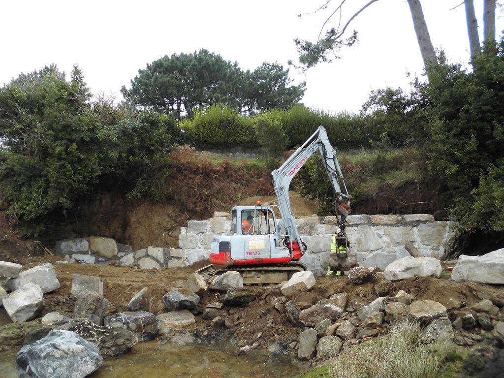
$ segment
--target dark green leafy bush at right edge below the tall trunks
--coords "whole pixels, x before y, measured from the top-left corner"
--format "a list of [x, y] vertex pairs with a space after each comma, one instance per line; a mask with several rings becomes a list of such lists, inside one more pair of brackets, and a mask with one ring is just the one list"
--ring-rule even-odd
[[451, 217], [462, 229], [502, 231], [504, 40], [485, 45], [473, 72], [441, 61], [422, 88], [430, 100], [430, 169], [442, 177]]

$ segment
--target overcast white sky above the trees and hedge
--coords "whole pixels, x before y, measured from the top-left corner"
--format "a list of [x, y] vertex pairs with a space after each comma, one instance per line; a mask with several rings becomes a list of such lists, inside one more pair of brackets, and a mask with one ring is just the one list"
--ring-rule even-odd
[[[368, 0], [347, 0], [347, 19]], [[436, 48], [450, 60], [469, 60], [462, 0], [422, 0]], [[94, 94], [120, 98], [139, 69], [164, 55], [200, 48], [238, 61], [254, 70], [264, 61], [287, 68], [297, 61], [294, 37], [316, 40], [328, 11], [301, 18], [325, 0], [17, 0], [0, 3], [0, 84], [20, 73], [55, 63], [67, 74], [82, 68]], [[333, 0], [334, 5], [340, 0]], [[475, 0], [481, 20], [483, 0]], [[334, 22], [336, 22], [336, 18]], [[482, 22], [480, 36], [482, 36]], [[497, 19], [497, 38], [504, 28]], [[342, 51], [342, 58], [320, 65], [305, 75], [290, 69], [295, 84], [306, 81], [305, 105], [337, 113], [358, 112], [371, 89], [407, 88], [422, 74], [422, 60], [406, 0], [381, 0], [358, 16], [350, 29], [360, 42]]]

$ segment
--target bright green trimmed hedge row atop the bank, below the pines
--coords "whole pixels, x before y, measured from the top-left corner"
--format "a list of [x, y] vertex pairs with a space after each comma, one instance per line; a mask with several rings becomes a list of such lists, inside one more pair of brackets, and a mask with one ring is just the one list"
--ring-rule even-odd
[[269, 110], [254, 117], [246, 117], [231, 108], [214, 105], [197, 112], [194, 119], [180, 122], [180, 128], [196, 145], [263, 145], [261, 142], [265, 138], [258, 133], [279, 129], [274, 135], [283, 136], [284, 139], [278, 140], [278, 144], [286, 149], [304, 143], [320, 125], [326, 128], [329, 139], [338, 149], [369, 147], [383, 133], [376, 122], [373, 122], [371, 115], [333, 115], [302, 105], [286, 111]]

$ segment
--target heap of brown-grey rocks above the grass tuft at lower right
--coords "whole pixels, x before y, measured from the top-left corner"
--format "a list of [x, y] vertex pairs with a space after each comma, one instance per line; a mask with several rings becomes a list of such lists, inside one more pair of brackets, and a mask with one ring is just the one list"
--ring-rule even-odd
[[[299, 290], [291, 290], [294, 285]], [[363, 305], [357, 300], [349, 302], [349, 294], [343, 292], [301, 310], [291, 297], [305, 290], [308, 289], [299, 283], [285, 283], [282, 286], [285, 297], [275, 298], [275, 304], [272, 301], [286, 320], [302, 329], [297, 349], [301, 360], [326, 359], [344, 347], [383, 335], [392, 324], [404, 320], [421, 324], [422, 342], [425, 343], [446, 339], [459, 345], [472, 345], [481, 341], [485, 332], [487, 337], [504, 343], [504, 322], [499, 321], [502, 314], [488, 299], [471, 308], [454, 301], [447, 309], [437, 301], [415, 300], [413, 295], [399, 290], [394, 296], [378, 297]], [[278, 306], [277, 303], [285, 305]]]

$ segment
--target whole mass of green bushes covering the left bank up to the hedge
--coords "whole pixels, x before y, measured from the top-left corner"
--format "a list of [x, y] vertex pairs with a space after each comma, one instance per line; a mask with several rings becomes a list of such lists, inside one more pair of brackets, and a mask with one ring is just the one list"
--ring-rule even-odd
[[98, 183], [135, 191], [170, 150], [172, 118], [90, 97], [77, 67], [70, 81], [51, 66], [0, 89], [0, 182], [12, 221], [43, 225]]

